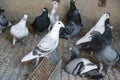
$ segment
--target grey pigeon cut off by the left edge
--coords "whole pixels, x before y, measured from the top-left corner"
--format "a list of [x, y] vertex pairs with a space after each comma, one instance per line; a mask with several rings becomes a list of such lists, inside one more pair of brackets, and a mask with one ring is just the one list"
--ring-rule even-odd
[[2, 33], [4, 29], [12, 25], [11, 22], [9, 22], [7, 18], [1, 14], [4, 11], [5, 10], [2, 7], [0, 7], [0, 33]]

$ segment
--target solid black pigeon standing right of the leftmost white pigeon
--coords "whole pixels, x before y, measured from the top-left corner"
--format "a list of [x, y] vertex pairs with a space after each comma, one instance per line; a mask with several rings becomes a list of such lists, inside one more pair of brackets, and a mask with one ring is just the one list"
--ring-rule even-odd
[[48, 9], [43, 8], [43, 12], [40, 16], [37, 16], [35, 20], [32, 23], [32, 27], [36, 33], [43, 33], [42, 36], [44, 35], [44, 31], [48, 29], [50, 25], [50, 19], [48, 17]]

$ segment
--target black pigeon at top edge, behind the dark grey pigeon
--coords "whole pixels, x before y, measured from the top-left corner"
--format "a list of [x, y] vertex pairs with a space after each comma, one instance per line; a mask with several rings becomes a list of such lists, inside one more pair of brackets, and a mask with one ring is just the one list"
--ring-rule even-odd
[[66, 14], [67, 20], [70, 20], [73, 18], [73, 13], [76, 11], [76, 5], [75, 5], [75, 0], [70, 0], [70, 9]]

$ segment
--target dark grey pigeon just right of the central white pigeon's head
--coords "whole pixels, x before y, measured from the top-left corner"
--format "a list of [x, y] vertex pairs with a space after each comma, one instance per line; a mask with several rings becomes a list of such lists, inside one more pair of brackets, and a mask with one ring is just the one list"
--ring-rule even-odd
[[71, 39], [80, 32], [82, 26], [83, 25], [81, 22], [80, 11], [76, 10], [74, 11], [73, 18], [69, 20], [66, 27], [62, 29], [60, 37], [65, 38], [65, 39]]

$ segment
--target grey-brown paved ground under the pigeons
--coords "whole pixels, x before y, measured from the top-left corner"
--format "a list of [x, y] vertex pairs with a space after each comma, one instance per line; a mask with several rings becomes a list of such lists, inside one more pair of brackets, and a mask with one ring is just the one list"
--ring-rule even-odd
[[[89, 22], [87, 25], [93, 25], [96, 23], [96, 21], [89, 21], [86, 20], [86, 23]], [[112, 34], [113, 34], [113, 47], [120, 52], [120, 36], [119, 36], [119, 25], [120, 24], [114, 24], [118, 29], [113, 28]], [[11, 48], [12, 43], [12, 36], [9, 33], [9, 29], [5, 30], [2, 34], [0, 34], [0, 80], [26, 80], [28, 76], [33, 72], [35, 69], [35, 63], [34, 60], [21, 63], [21, 58], [26, 55], [28, 52], [34, 49], [36, 44], [39, 42], [41, 38], [35, 39], [33, 37], [33, 32], [31, 30], [31, 27], [29, 27], [30, 34], [28, 36], [28, 39], [25, 41], [26, 45], [21, 45], [19, 42], [16, 43], [16, 47], [14, 49]], [[59, 77], [59, 80], [81, 80], [81, 77], [78, 76], [72, 76], [67, 74], [64, 70], [64, 66], [70, 59], [70, 51], [69, 48], [72, 47], [75, 44], [75, 41], [78, 40], [81, 36], [83, 36], [89, 28], [85, 27], [81, 33], [73, 38], [70, 41], [60, 39], [60, 43], [58, 46], [58, 51], [62, 55], [62, 67], [59, 69], [58, 72], [60, 72], [59, 75], [55, 77]], [[78, 46], [79, 47], [79, 46]], [[95, 58], [89, 55], [90, 51], [84, 51], [80, 50], [81, 56], [88, 58], [92, 60], [93, 62], [96, 61]], [[96, 62], [97, 63], [97, 62]], [[119, 67], [116, 68], [118, 71]], [[120, 73], [117, 73], [116, 76], [113, 75], [113, 77], [110, 80], [120, 80], [119, 79]], [[58, 78], [57, 78], [58, 79]], [[53, 80], [57, 80], [54, 78]], [[104, 79], [107, 80], [107, 79]]]

